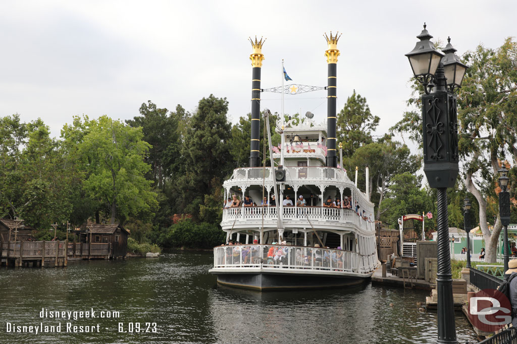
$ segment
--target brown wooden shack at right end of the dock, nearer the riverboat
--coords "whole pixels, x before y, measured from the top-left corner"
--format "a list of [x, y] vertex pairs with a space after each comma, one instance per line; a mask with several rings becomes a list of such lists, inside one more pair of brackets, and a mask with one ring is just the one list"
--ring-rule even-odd
[[92, 244], [111, 244], [110, 257], [118, 258], [127, 255], [129, 231], [118, 223], [95, 223], [88, 227], [86, 240]]

